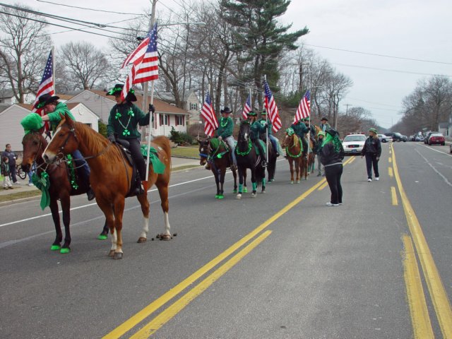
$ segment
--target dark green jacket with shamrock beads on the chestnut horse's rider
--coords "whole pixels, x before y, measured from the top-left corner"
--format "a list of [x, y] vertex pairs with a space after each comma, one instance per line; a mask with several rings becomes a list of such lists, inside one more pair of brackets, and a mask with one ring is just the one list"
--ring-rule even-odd
[[120, 139], [141, 138], [141, 133], [138, 132], [138, 124], [147, 126], [149, 117], [149, 114], [144, 114], [131, 102], [114, 105], [108, 117], [107, 136], [116, 133]]

